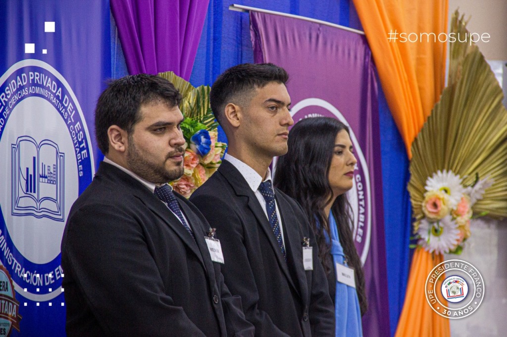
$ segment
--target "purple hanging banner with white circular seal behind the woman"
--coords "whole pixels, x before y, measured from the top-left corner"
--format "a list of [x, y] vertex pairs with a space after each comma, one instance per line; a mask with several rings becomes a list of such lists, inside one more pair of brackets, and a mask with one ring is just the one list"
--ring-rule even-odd
[[357, 157], [348, 198], [354, 241], [366, 276], [365, 336], [389, 336], [377, 83], [366, 37], [298, 18], [250, 12], [256, 63], [289, 74], [295, 122], [329, 116], [349, 125]]

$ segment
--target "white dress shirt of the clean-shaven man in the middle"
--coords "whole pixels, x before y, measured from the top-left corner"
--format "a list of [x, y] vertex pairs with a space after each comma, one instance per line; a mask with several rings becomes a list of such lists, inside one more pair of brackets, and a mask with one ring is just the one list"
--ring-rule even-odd
[[[266, 179], [262, 180], [262, 177], [255, 170], [253, 170], [253, 168], [251, 168], [241, 160], [234, 158], [229, 153], [225, 154], [224, 159], [233, 164], [234, 167], [238, 169], [239, 173], [246, 180], [246, 183], [253, 191], [253, 193], [255, 193], [255, 196], [259, 200], [259, 203], [261, 204], [261, 207], [264, 210], [264, 214], [266, 215], [266, 219], [268, 219], [269, 221], [268, 211], [266, 209], [266, 200], [264, 199], [261, 191], [259, 191], [259, 186], [261, 186], [261, 183], [271, 180], [271, 184], [273, 184], [273, 181], [271, 179], [271, 170], [269, 169], [269, 167], [268, 172], [266, 174]], [[276, 207], [276, 217], [278, 218], [278, 224], [280, 226], [280, 233], [282, 235], [283, 245], [285, 246], [285, 239], [283, 237], [282, 219], [280, 217], [280, 210], [278, 209], [278, 203], [276, 202], [276, 199], [275, 199], [275, 207]]]

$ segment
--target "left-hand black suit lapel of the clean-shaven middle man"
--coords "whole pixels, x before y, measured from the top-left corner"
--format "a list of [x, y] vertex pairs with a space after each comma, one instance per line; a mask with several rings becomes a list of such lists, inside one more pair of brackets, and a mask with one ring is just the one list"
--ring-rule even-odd
[[[280, 250], [278, 242], [276, 241], [273, 229], [271, 228], [271, 224], [269, 223], [268, 218], [266, 217], [266, 214], [264, 213], [264, 210], [262, 209], [262, 206], [259, 203], [259, 200], [257, 199], [255, 193], [253, 193], [253, 191], [250, 189], [250, 186], [248, 186], [245, 179], [236, 169], [236, 167], [227, 160], [224, 160], [222, 162], [218, 171], [224, 176], [229, 184], [231, 184], [237, 195], [248, 197], [248, 208], [250, 208], [251, 212], [256, 217], [259, 227], [262, 228], [265, 235], [268, 237], [268, 241], [275, 253], [275, 257], [278, 261], [280, 269], [283, 271], [283, 274], [287, 278], [288, 282], [292, 285], [294, 290], [296, 290], [297, 293], [300, 293], [298, 287], [296, 287], [294, 283], [293, 278], [291, 277], [291, 273], [288, 270], [287, 262], [285, 262], [285, 259], [283, 258], [283, 254]], [[287, 231], [287, 233], [288, 232], [289, 231]], [[284, 239], [286, 240], [287, 238], [284, 237]]]

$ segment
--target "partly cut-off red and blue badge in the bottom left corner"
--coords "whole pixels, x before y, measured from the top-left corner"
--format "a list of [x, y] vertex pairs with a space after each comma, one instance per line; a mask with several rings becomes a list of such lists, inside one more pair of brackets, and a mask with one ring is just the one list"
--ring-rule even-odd
[[0, 266], [0, 337], [11, 334], [12, 328], [19, 331], [19, 302], [12, 279], [4, 266]]

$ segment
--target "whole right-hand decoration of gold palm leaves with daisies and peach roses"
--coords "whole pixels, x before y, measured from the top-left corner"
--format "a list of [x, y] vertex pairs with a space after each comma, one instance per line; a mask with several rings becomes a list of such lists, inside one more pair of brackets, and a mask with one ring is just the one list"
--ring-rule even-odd
[[[463, 17], [454, 13], [453, 33], [469, 34]], [[445, 253], [460, 254], [474, 218], [507, 217], [507, 110], [502, 97], [478, 47], [450, 43], [447, 87], [411, 147], [407, 189], [418, 239], [411, 247], [418, 248], [419, 256], [430, 254], [436, 262]], [[426, 272], [424, 267], [417, 270]]]

